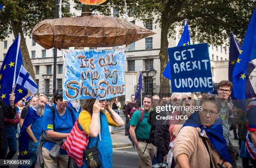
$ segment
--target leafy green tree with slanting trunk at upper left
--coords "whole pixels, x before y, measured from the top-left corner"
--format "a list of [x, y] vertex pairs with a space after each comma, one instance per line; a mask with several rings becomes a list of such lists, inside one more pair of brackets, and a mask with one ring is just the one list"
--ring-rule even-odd
[[[62, 0], [63, 3], [68, 1]], [[31, 36], [33, 27], [40, 21], [54, 18], [54, 0], [0, 0], [0, 4], [3, 5], [3, 9], [0, 10], [0, 40], [3, 41], [6, 38], [6, 31], [13, 32], [15, 38], [20, 33], [23, 64], [35, 80], [24, 36]], [[63, 8], [63, 10], [66, 12], [68, 9]]]

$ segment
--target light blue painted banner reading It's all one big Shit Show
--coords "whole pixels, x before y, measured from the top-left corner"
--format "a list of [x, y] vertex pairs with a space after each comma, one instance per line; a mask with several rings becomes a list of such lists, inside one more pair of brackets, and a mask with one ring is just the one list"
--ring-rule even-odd
[[125, 49], [65, 50], [63, 99], [109, 99], [125, 94]]

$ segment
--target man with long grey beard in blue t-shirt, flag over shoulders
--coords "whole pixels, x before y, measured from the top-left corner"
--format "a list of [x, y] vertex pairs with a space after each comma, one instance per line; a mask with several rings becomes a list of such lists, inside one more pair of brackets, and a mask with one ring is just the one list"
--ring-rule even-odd
[[[23, 127], [22, 127], [23, 135], [19, 137], [19, 143], [22, 143], [21, 141], [23, 141], [23, 143], [24, 141], [28, 143], [28, 145], [20, 144], [19, 146], [21, 148], [24, 147], [25, 149], [23, 148], [23, 149], [20, 149], [19, 151], [21, 152], [20, 153], [21, 155], [22, 154], [25, 155], [26, 151], [28, 151], [27, 159], [31, 159], [32, 167], [36, 163], [36, 159], [37, 159], [36, 150], [39, 145], [39, 138], [42, 135], [43, 116], [44, 116], [44, 110], [45, 110], [45, 105], [47, 101], [48, 101], [48, 98], [45, 95], [41, 95], [38, 97], [38, 102], [36, 103], [36, 106], [29, 107], [26, 118], [23, 123]], [[25, 134], [27, 133], [28, 136], [24, 136], [24, 133]], [[21, 137], [28, 137], [28, 138], [27, 140], [24, 140]], [[26, 146], [28, 146], [28, 148]], [[23, 166], [23, 167], [26, 167], [26, 166]]]

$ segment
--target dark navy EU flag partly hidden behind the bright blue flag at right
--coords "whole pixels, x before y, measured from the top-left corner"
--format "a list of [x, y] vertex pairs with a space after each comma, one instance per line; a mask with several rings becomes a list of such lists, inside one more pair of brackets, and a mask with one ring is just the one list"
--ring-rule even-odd
[[[232, 72], [235, 67], [239, 51], [241, 50], [241, 45], [238, 43], [233, 33], [230, 33], [230, 43], [229, 43], [229, 64], [228, 64], [228, 80], [233, 82]], [[247, 66], [247, 75], [246, 75], [246, 99], [254, 97], [255, 93], [253, 87], [251, 86], [251, 81], [249, 76], [255, 65], [250, 61]], [[234, 89], [234, 88], [233, 88]], [[233, 92], [231, 92], [232, 99], [235, 99]]]

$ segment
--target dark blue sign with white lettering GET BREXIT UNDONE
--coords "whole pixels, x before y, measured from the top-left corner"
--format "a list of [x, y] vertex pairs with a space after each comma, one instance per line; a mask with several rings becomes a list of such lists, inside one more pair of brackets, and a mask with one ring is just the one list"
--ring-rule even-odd
[[172, 92], [210, 92], [212, 72], [208, 44], [168, 48]]

